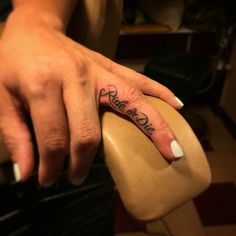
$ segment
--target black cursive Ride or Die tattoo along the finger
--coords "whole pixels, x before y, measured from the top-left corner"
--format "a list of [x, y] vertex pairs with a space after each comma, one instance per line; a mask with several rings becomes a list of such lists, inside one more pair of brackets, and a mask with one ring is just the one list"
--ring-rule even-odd
[[120, 100], [118, 97], [118, 90], [114, 85], [108, 85], [108, 91], [105, 88], [100, 90], [100, 97], [108, 96], [110, 105], [128, 115], [140, 128], [144, 129], [147, 134], [152, 135], [155, 128], [149, 122], [148, 116], [143, 112], [138, 112], [137, 108], [125, 111], [129, 104], [126, 100]]

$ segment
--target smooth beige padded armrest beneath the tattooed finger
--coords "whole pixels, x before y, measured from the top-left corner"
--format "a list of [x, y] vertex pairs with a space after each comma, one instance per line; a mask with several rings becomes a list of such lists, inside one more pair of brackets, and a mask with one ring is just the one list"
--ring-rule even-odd
[[205, 154], [183, 117], [163, 101], [148, 98], [183, 147], [184, 157], [167, 163], [132, 122], [113, 112], [102, 116], [105, 161], [127, 210], [144, 221], [169, 213], [210, 183]]

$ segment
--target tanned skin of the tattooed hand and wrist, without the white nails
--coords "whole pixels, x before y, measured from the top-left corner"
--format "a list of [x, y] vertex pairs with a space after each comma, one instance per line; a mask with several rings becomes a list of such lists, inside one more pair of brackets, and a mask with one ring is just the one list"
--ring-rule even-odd
[[175, 137], [143, 96], [181, 108], [170, 90], [68, 38], [65, 29], [75, 1], [13, 4], [0, 40], [0, 132], [21, 181], [34, 167], [26, 114], [34, 126], [42, 185], [56, 180], [67, 152], [69, 180], [88, 175], [101, 140], [100, 105], [127, 115], [168, 160], [175, 160], [170, 149]]

